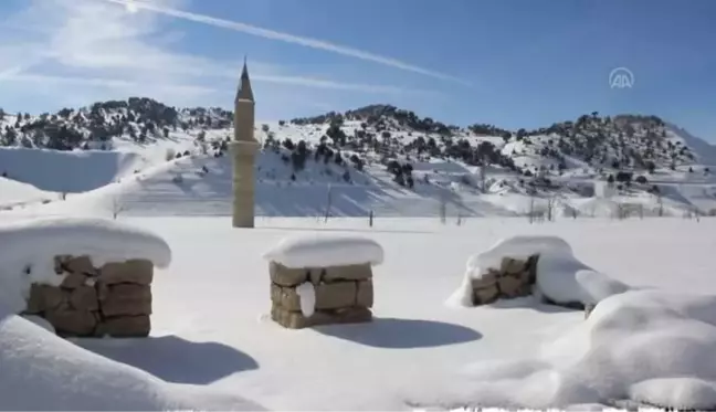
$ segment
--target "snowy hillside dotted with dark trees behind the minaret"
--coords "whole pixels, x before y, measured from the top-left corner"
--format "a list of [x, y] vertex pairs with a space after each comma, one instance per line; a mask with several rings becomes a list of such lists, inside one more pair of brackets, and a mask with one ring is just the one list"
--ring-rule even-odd
[[[0, 172], [42, 191], [72, 193], [55, 199], [95, 199], [104, 210], [122, 203], [126, 214], [224, 215], [231, 210], [224, 156], [231, 119], [220, 108], [175, 108], [149, 98], [53, 115], [0, 112]], [[654, 116], [593, 113], [510, 131], [372, 105], [259, 123], [255, 136], [263, 146], [256, 165], [262, 215], [716, 210], [716, 148]], [[0, 204], [17, 210], [23, 199], [24, 207], [40, 207], [34, 193], [12, 201], [0, 194]]]

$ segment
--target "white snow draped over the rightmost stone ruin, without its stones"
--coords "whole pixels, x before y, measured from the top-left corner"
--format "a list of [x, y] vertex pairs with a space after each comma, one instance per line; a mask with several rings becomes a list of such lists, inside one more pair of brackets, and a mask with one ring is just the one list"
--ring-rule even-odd
[[577, 260], [571, 246], [560, 237], [514, 236], [497, 242], [467, 261], [463, 283], [448, 304], [473, 306], [472, 279], [481, 278], [489, 267], [498, 268], [504, 257], [526, 261], [531, 255], [539, 255], [537, 290], [552, 302], [596, 304], [630, 288]]

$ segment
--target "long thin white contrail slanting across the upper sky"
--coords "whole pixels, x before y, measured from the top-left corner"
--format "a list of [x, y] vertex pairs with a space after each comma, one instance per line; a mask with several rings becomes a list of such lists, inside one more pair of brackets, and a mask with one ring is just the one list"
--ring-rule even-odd
[[330, 43], [324, 40], [318, 40], [318, 39], [312, 39], [312, 38], [305, 38], [305, 36], [298, 36], [294, 34], [288, 34], [288, 33], [283, 33], [274, 30], [268, 30], [268, 29], [263, 29], [259, 28], [255, 25], [246, 24], [246, 23], [241, 23], [236, 21], [230, 21], [230, 20], [223, 20], [223, 19], [218, 19], [213, 18], [210, 15], [206, 14], [199, 14], [199, 13], [192, 13], [188, 11], [182, 11], [178, 9], [172, 9], [170, 7], [165, 7], [160, 3], [157, 2], [144, 2], [144, 1], [137, 1], [137, 0], [104, 0], [107, 2], [112, 3], [117, 3], [117, 4], [123, 4], [125, 7], [128, 7], [128, 4], [131, 4], [134, 8], [138, 9], [144, 9], [144, 10], [149, 10], [154, 11], [156, 13], [161, 13], [166, 15], [171, 15], [178, 19], [185, 19], [198, 23], [203, 23], [203, 24], [209, 24], [213, 25], [217, 28], [223, 28], [223, 29], [229, 29], [233, 31], [239, 31], [242, 33], [255, 35], [259, 38], [263, 39], [271, 39], [271, 40], [277, 40], [286, 43], [293, 43], [293, 44], [299, 44], [306, 47], [312, 47], [312, 49], [318, 49], [318, 50], [325, 50], [328, 52], [337, 53], [337, 54], [343, 54], [365, 61], [371, 61], [376, 62], [382, 65], [413, 72], [413, 73], [419, 73], [423, 74], [427, 76], [435, 77], [435, 78], [441, 78], [445, 81], [451, 81], [451, 82], [457, 82], [464, 85], [470, 85], [468, 82], [465, 82], [459, 77], [431, 71], [428, 68], [419, 67], [415, 65], [412, 65], [410, 63], [402, 62], [398, 59], [393, 57], [388, 57], [388, 56], [382, 56], [378, 54], [373, 54], [370, 52], [366, 52], [362, 50], [354, 49], [354, 47], [348, 47], [335, 43]]

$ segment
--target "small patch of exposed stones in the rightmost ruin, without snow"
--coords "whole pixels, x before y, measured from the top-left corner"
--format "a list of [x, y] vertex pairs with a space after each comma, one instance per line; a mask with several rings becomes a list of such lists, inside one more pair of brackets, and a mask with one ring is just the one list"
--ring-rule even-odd
[[527, 260], [504, 257], [499, 267], [489, 267], [472, 279], [473, 304], [488, 305], [498, 299], [529, 296], [537, 282], [538, 255]]

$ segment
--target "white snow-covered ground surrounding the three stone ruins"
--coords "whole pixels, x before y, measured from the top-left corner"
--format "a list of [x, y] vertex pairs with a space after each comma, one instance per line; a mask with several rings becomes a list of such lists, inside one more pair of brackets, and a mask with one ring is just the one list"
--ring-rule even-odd
[[[0, 224], [17, 228], [14, 219], [0, 215]], [[362, 219], [261, 219], [255, 230], [232, 229], [227, 218], [119, 222], [156, 233], [171, 250], [152, 284], [152, 336], [75, 346], [6, 308], [0, 399], [8, 410], [716, 405], [715, 220], [470, 219], [457, 226], [377, 219], [370, 229]], [[264, 254], [315, 233], [382, 247], [372, 323], [287, 330], [270, 320]], [[533, 298], [445, 305], [468, 258], [515, 235], [559, 236], [594, 271], [587, 278], [600, 273], [635, 289], [608, 296], [623, 290], [601, 288], [588, 320]]]

